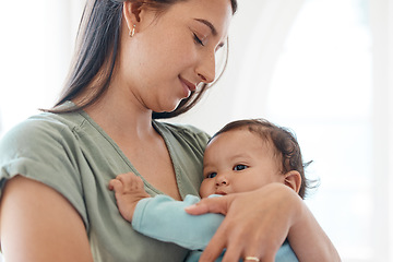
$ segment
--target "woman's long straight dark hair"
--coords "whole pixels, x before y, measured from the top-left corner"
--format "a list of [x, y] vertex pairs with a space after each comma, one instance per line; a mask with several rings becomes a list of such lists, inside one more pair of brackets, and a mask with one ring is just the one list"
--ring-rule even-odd
[[[88, 0], [83, 11], [74, 59], [66, 85], [55, 108], [47, 111], [70, 112], [83, 109], [99, 100], [108, 90], [118, 56], [124, 1], [146, 5], [159, 15], [170, 5], [187, 0]], [[237, 0], [228, 1], [235, 13]], [[56, 108], [66, 100], [78, 97], [93, 82], [95, 93], [82, 100], [79, 106], [68, 109]], [[203, 84], [198, 92], [191, 92], [191, 95], [181, 100], [174, 111], [153, 112], [153, 118], [171, 118], [190, 110], [201, 99], [207, 86]]]

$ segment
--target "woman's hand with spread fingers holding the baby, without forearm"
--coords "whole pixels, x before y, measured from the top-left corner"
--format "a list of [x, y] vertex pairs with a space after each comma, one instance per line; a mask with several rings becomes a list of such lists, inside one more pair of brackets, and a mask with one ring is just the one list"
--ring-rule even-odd
[[274, 261], [296, 216], [295, 192], [283, 184], [271, 184], [252, 192], [203, 200], [190, 214], [214, 212], [226, 217], [200, 261], [214, 261], [226, 249], [223, 262], [246, 257]]

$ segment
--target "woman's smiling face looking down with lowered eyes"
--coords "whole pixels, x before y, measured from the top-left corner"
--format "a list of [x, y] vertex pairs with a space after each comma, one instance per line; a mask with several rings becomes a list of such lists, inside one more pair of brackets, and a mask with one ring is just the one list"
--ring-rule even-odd
[[156, 16], [142, 9], [120, 47], [121, 88], [144, 108], [171, 111], [201, 82], [215, 79], [215, 53], [233, 16], [229, 0], [188, 0]]

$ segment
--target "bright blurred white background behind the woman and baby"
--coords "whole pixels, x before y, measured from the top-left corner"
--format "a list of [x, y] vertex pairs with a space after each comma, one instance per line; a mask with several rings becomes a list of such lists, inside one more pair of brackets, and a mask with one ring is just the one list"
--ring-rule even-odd
[[[0, 0], [0, 136], [53, 105], [84, 2]], [[170, 121], [290, 128], [321, 181], [306, 202], [343, 261], [393, 261], [393, 0], [239, 0], [229, 44], [223, 78]]]

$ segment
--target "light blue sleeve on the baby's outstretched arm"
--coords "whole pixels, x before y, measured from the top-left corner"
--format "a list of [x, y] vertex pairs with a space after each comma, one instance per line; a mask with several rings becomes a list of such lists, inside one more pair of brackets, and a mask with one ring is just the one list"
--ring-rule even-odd
[[174, 242], [190, 250], [204, 249], [224, 219], [221, 214], [193, 216], [184, 207], [199, 202], [195, 195], [176, 201], [167, 195], [141, 200], [135, 209], [134, 230], [160, 241]]

